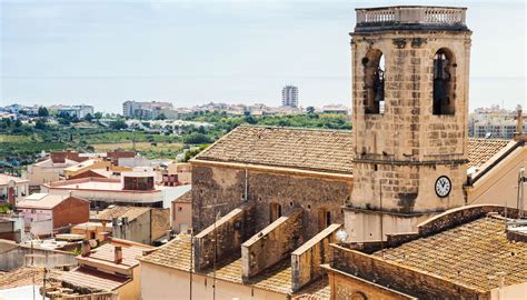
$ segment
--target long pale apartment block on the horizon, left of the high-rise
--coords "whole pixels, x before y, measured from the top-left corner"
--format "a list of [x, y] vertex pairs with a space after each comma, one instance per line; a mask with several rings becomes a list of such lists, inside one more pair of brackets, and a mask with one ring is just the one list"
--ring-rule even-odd
[[157, 119], [160, 116], [167, 119], [176, 119], [178, 113], [170, 102], [136, 102], [126, 101], [122, 103], [122, 116], [139, 119]]

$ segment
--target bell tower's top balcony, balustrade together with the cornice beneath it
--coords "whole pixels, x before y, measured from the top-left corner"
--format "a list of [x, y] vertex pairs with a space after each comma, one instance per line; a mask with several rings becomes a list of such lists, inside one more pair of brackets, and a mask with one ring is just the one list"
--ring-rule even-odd
[[356, 9], [355, 32], [378, 30], [468, 30], [466, 8], [385, 7]]

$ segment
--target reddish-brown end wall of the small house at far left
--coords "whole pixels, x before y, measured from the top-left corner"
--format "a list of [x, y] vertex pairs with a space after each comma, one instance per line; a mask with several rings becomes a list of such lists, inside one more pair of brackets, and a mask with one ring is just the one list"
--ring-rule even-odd
[[90, 202], [70, 197], [53, 208], [53, 228], [80, 224], [90, 219]]

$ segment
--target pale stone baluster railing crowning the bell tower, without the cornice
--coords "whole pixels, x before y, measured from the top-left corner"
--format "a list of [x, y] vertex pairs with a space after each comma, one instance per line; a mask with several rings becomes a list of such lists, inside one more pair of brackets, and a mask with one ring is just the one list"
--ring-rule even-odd
[[465, 26], [465, 8], [388, 7], [357, 9], [357, 26]]

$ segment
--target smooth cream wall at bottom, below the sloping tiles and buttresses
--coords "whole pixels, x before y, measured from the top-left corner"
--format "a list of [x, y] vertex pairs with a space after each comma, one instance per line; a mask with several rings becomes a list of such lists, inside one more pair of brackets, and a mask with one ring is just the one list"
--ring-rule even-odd
[[[171, 294], [190, 299], [190, 274], [171, 268], [141, 262], [141, 299], [165, 300]], [[192, 299], [212, 299], [212, 278], [192, 274]], [[156, 287], [156, 288], [152, 288]], [[290, 297], [223, 280], [216, 281], [217, 300], [286, 300]]]

